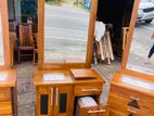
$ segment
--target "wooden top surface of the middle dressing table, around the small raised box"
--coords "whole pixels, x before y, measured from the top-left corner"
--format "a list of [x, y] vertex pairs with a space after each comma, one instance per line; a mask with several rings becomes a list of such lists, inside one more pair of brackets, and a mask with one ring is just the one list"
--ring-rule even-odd
[[[85, 75], [86, 75], [87, 70], [82, 69], [82, 72], [85, 72]], [[87, 73], [87, 76], [88, 75], [91, 76], [89, 73]], [[74, 79], [70, 70], [38, 70], [35, 73], [35, 86], [66, 85], [66, 83], [74, 85], [74, 83], [90, 83], [90, 82], [103, 83], [104, 82], [104, 80], [101, 78], [100, 75], [95, 73], [95, 76], [97, 77], [94, 79]], [[57, 78], [57, 80], [55, 80], [55, 78]]]

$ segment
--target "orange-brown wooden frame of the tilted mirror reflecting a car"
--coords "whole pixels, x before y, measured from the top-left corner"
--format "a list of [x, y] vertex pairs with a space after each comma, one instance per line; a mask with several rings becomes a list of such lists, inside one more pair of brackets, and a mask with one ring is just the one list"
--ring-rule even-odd
[[130, 47], [131, 47], [131, 42], [132, 42], [132, 36], [133, 36], [133, 31], [134, 31], [134, 26], [136, 26], [136, 18], [137, 18], [137, 14], [138, 14], [139, 3], [140, 3], [140, 0], [134, 0], [130, 25], [129, 25], [129, 31], [127, 35], [126, 47], [125, 47], [124, 54], [123, 54], [121, 72], [127, 73], [127, 74], [137, 75], [137, 76], [142, 75], [142, 76], [146, 76], [146, 77], [152, 77], [147, 74], [143, 74], [143, 73], [127, 68], [128, 56], [129, 56]]

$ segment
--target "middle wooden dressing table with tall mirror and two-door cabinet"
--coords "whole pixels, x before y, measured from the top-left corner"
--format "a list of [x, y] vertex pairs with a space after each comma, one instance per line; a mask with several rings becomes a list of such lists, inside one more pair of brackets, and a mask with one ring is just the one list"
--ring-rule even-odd
[[[91, 11], [72, 2], [51, 5], [38, 0], [38, 27], [42, 28], [38, 28], [39, 70], [34, 82], [36, 116], [75, 116], [79, 96], [90, 95], [101, 103], [104, 80], [90, 69], [98, 0], [92, 0]], [[76, 15], [81, 24], [77, 24]], [[80, 17], [84, 15], [86, 18]]]

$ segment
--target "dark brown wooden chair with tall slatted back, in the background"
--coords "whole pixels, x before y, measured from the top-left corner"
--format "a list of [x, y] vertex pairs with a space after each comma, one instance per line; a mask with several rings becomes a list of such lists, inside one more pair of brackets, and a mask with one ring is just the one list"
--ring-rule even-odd
[[[34, 40], [33, 40], [33, 29], [29, 24], [20, 24], [20, 40], [18, 40], [18, 62], [21, 62], [21, 57], [27, 57], [33, 55], [34, 51]], [[22, 54], [22, 51], [25, 53]], [[30, 52], [31, 53], [28, 53]]]

